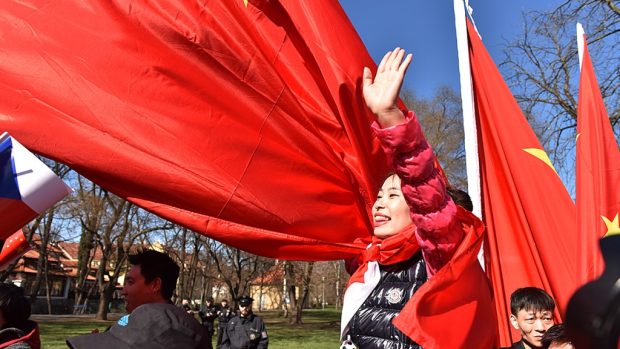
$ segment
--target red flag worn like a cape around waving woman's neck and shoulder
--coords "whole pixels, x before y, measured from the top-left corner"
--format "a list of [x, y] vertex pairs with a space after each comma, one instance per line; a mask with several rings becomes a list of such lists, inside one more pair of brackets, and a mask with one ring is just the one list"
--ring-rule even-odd
[[[496, 344], [497, 320], [490, 284], [477, 260], [484, 226], [461, 207], [457, 207], [457, 219], [462, 223], [464, 237], [454, 256], [413, 294], [392, 322], [425, 348], [492, 348]], [[411, 258], [419, 250], [415, 231], [412, 225], [387, 239], [373, 238], [372, 245], [358, 258], [360, 265], [347, 287], [364, 283], [371, 261], [390, 265]], [[452, 326], [454, 323], [459, 325]], [[343, 323], [342, 328], [346, 325]], [[485, 330], [473, 330], [476, 326]]]

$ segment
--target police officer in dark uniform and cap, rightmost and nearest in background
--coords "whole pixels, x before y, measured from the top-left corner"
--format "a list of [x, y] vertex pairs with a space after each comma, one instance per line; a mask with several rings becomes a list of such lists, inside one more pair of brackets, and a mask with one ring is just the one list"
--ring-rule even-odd
[[239, 299], [239, 315], [226, 326], [222, 337], [222, 349], [267, 349], [269, 337], [265, 323], [260, 316], [252, 313], [252, 298]]

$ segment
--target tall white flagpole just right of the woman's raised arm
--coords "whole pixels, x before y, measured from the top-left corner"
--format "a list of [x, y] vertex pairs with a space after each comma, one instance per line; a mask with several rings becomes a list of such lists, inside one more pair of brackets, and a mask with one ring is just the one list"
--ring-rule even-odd
[[[482, 198], [480, 189], [480, 163], [478, 161], [478, 137], [476, 129], [476, 112], [474, 92], [471, 81], [471, 67], [469, 63], [469, 43], [467, 39], [467, 24], [465, 22], [465, 7], [471, 16], [472, 9], [467, 0], [454, 0], [454, 25], [456, 27], [456, 44], [459, 57], [459, 72], [461, 82], [461, 103], [463, 107], [463, 131], [465, 133], [465, 158], [467, 164], [467, 191], [474, 205], [473, 213], [482, 218]], [[483, 247], [484, 248], [484, 247]], [[478, 261], [484, 269], [483, 248], [478, 253]]]

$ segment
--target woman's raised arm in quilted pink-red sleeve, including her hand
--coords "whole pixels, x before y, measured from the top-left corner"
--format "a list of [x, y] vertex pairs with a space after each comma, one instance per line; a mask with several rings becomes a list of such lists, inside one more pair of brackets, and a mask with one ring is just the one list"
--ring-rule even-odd
[[400, 48], [388, 52], [374, 80], [370, 69], [364, 68], [364, 99], [377, 115], [378, 124], [373, 129], [401, 178], [402, 192], [417, 226], [416, 239], [433, 275], [450, 260], [463, 230], [456, 220], [456, 206], [447, 195], [446, 179], [415, 114], [398, 109], [398, 94], [411, 59], [411, 54], [405, 57]]

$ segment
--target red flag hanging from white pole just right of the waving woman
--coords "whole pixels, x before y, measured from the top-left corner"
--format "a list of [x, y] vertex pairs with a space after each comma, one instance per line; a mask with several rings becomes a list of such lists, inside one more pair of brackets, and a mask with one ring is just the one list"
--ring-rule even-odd
[[578, 286], [575, 205], [536, 135], [467, 21], [474, 85], [487, 274], [493, 284], [500, 342], [510, 332], [510, 294], [545, 289], [560, 313]]

